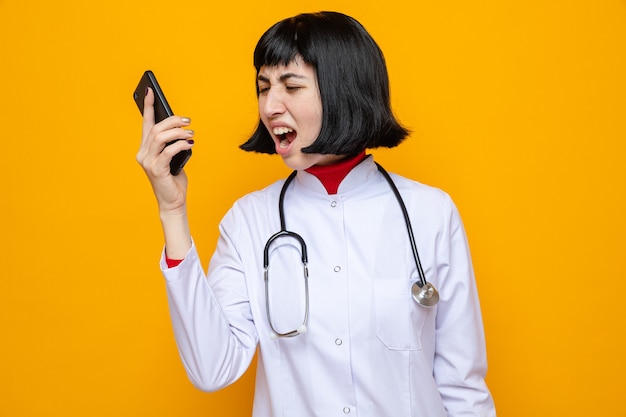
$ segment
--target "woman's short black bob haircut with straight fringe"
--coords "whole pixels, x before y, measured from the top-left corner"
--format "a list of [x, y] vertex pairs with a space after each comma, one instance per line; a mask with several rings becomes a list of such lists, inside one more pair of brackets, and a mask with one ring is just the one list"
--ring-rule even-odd
[[[288, 65], [297, 56], [315, 70], [323, 112], [319, 136], [302, 152], [356, 155], [397, 146], [409, 134], [391, 110], [383, 53], [355, 19], [320, 12], [276, 23], [254, 50], [257, 76], [262, 66]], [[276, 153], [261, 121], [241, 149]]]

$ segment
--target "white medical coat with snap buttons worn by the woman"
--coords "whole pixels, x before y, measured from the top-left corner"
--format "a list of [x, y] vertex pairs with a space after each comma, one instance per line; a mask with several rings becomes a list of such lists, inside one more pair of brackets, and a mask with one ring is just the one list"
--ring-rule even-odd
[[[288, 230], [308, 245], [306, 333], [274, 339], [263, 248], [280, 230], [283, 181], [238, 200], [220, 224], [208, 274], [195, 246], [162, 269], [180, 355], [206, 391], [237, 380], [259, 349], [254, 417], [495, 416], [485, 385], [483, 326], [467, 239], [444, 192], [392, 175], [410, 213], [433, 308], [411, 298], [417, 280], [401, 209], [373, 158], [336, 195], [304, 171], [285, 196]], [[279, 332], [298, 328], [304, 278], [297, 241], [270, 250], [269, 298]]]

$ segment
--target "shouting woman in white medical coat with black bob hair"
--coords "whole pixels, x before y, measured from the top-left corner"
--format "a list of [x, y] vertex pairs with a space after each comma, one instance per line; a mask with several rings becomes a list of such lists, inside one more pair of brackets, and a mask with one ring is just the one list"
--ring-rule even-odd
[[[145, 98], [137, 159], [159, 203], [189, 378], [225, 387], [258, 347], [255, 417], [495, 416], [459, 214], [444, 192], [366, 154], [407, 136], [374, 40], [349, 16], [302, 14], [261, 37], [254, 65], [260, 122], [242, 148], [277, 153], [294, 175], [235, 202], [207, 274], [185, 174], [169, 173], [193, 146], [190, 120], [155, 125]], [[164, 148], [177, 138], [187, 141]]]

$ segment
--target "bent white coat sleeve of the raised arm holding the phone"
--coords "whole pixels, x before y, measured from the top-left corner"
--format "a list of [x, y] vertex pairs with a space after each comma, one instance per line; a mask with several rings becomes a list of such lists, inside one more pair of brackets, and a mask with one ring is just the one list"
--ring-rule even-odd
[[250, 365], [258, 343], [234, 245], [237, 228], [228, 230], [225, 224], [235, 224], [232, 213], [220, 224], [208, 278], [195, 245], [174, 268], [167, 269], [161, 260], [178, 351], [189, 379], [203, 391], [235, 382]]

